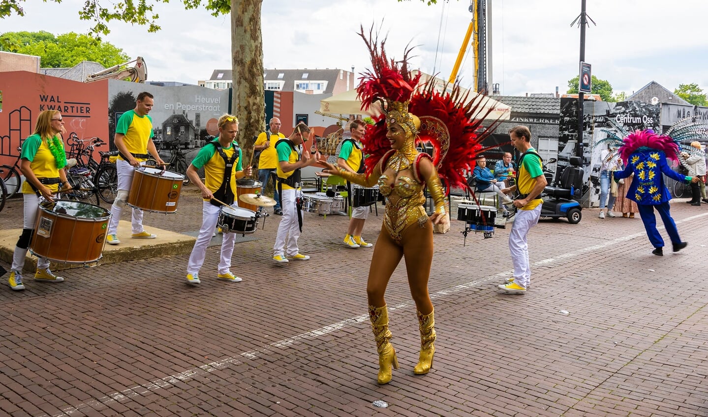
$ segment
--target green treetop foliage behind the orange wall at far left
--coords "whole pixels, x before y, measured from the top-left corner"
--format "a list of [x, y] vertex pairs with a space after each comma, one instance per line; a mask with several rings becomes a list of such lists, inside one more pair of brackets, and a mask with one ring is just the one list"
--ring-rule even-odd
[[94, 61], [103, 67], [113, 67], [130, 60], [119, 47], [78, 35], [74, 32], [52, 35], [45, 32], [7, 32], [0, 35], [3, 45], [13, 45], [11, 52], [37, 55], [42, 58], [42, 67], [74, 67], [81, 61]]

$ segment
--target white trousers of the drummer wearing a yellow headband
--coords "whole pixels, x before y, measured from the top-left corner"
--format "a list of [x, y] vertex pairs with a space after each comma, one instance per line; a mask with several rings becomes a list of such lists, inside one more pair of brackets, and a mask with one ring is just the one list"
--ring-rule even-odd
[[[237, 207], [236, 204], [232, 207]], [[217, 227], [219, 219], [220, 207], [212, 205], [205, 201], [202, 205], [202, 228], [199, 229], [199, 236], [194, 243], [194, 248], [189, 256], [187, 264], [187, 273], [198, 273], [204, 264], [204, 258], [207, 253], [207, 246], [214, 236], [214, 229]], [[234, 253], [234, 243], [236, 242], [236, 234], [224, 233], [222, 240], [221, 261], [219, 261], [219, 273], [225, 274], [231, 268], [231, 256]]]

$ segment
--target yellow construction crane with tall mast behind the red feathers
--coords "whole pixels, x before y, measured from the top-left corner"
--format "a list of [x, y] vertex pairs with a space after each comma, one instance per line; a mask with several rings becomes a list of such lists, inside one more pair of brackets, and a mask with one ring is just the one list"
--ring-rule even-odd
[[[462, 64], [462, 58], [464, 58], [465, 52], [467, 52], [469, 38], [472, 38], [472, 52], [474, 54], [474, 86], [478, 93], [487, 94], [489, 93], [489, 84], [487, 84], [487, 27], [488, 21], [491, 22], [490, 0], [470, 0], [468, 10], [472, 13], [472, 20], [469, 21], [467, 33], [464, 35], [462, 47], [459, 48], [455, 66], [452, 67], [450, 82], [453, 83], [455, 82], [455, 79], [457, 79], [459, 66]], [[489, 26], [491, 26], [491, 23]], [[491, 60], [489, 67], [489, 73], [491, 74]]]

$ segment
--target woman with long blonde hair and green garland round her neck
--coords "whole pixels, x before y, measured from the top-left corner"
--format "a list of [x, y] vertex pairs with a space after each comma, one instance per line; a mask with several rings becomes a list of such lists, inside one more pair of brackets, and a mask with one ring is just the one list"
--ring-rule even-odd
[[[62, 113], [57, 110], [44, 110], [37, 118], [35, 132], [22, 144], [20, 170], [26, 179], [22, 185], [23, 229], [12, 255], [8, 278], [8, 285], [16, 291], [25, 289], [22, 270], [34, 233], [40, 198], [53, 202], [60, 184], [64, 187], [62, 191], [72, 189], [72, 185], [67, 181], [67, 173], [64, 171], [64, 166], [67, 165], [67, 154], [64, 152], [64, 141], [60, 134], [62, 131], [64, 131]], [[38, 256], [35, 281], [62, 282], [64, 278], [52, 273], [49, 264], [47, 258]]]

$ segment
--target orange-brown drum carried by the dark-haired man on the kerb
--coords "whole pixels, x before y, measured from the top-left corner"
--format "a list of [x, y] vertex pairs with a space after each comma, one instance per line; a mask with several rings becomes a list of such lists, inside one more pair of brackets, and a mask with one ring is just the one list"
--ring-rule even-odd
[[183, 180], [184, 176], [176, 172], [135, 168], [127, 204], [147, 212], [176, 212]]

